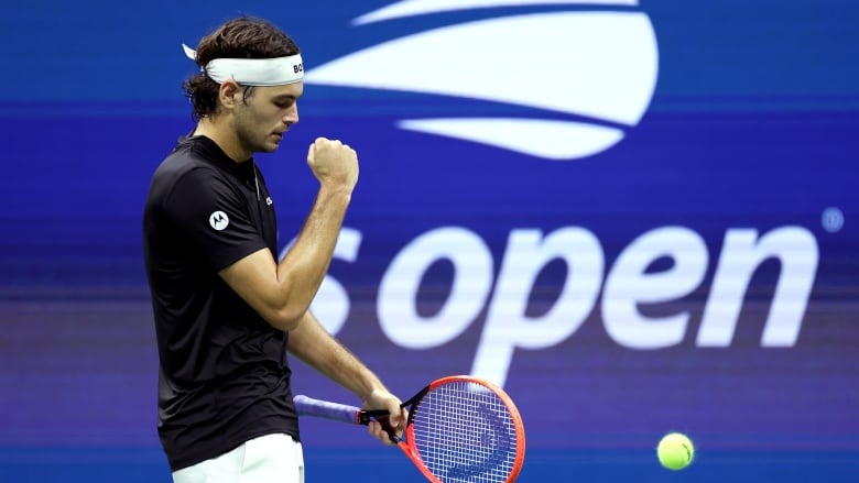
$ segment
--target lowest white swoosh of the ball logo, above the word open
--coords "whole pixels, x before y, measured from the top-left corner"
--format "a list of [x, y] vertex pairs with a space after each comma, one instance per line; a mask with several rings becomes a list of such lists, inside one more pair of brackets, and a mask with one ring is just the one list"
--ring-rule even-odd
[[615, 128], [542, 119], [418, 119], [400, 121], [398, 125], [410, 131], [478, 142], [547, 160], [590, 156], [623, 138], [623, 131]]

